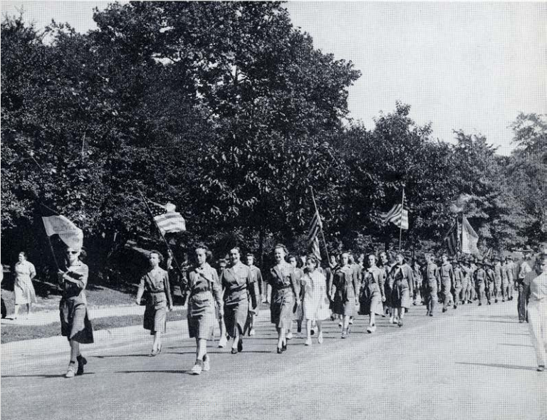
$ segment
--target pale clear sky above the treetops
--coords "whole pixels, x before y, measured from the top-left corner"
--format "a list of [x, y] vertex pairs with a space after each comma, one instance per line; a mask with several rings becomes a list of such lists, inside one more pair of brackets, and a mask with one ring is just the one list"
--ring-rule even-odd
[[[51, 19], [95, 28], [108, 1], [2, 1], [2, 13], [38, 27]], [[291, 1], [295, 26], [363, 75], [350, 88], [351, 117], [374, 127], [395, 101], [420, 125], [453, 141], [452, 130], [484, 134], [509, 154], [519, 112], [547, 113], [547, 3]]]

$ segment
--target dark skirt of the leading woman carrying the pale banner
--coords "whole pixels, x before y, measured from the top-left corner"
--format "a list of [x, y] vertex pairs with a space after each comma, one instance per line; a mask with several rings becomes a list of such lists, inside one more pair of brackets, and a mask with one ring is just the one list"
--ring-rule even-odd
[[61, 299], [59, 313], [63, 337], [82, 344], [93, 342], [93, 327], [85, 303], [76, 299]]

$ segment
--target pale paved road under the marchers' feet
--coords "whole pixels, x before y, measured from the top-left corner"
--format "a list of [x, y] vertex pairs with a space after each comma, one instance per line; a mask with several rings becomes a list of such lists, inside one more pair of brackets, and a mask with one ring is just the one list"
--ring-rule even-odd
[[[295, 339], [283, 355], [275, 352], [276, 333], [263, 313], [244, 352], [211, 347], [212, 370], [199, 377], [188, 374], [195, 347], [180, 322], [169, 326], [164, 351], [155, 358], [146, 357], [151, 337], [143, 330], [101, 338], [103, 344], [87, 347], [85, 375], [74, 379], [62, 377], [68, 348], [51, 345], [53, 339], [2, 346], [1, 414], [546, 420], [547, 372], [535, 371], [527, 325], [516, 322], [515, 305], [464, 306], [432, 318], [415, 307], [404, 327], [382, 318], [374, 335], [365, 334], [360, 317], [348, 340], [340, 340], [338, 325], [328, 322], [323, 345], [314, 340], [306, 347]], [[41, 348], [48, 343], [50, 351]]]

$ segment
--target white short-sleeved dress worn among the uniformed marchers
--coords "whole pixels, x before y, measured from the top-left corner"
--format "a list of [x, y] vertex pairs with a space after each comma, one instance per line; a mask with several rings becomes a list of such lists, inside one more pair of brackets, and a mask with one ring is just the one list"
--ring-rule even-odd
[[321, 321], [330, 317], [330, 302], [327, 297], [327, 279], [319, 271], [306, 273], [301, 279], [304, 290], [302, 302], [303, 319]]

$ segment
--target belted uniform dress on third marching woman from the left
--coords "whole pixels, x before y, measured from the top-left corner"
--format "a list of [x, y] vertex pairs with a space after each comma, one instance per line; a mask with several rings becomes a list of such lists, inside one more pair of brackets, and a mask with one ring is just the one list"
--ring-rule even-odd
[[188, 332], [190, 338], [208, 339], [214, 330], [215, 301], [222, 305], [217, 270], [206, 263], [188, 273]]

